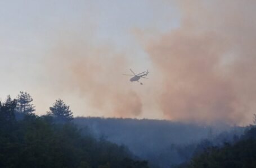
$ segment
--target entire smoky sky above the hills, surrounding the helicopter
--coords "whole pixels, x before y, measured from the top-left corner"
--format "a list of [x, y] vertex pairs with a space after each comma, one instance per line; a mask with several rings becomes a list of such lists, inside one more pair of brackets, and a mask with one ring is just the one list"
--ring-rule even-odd
[[60, 98], [76, 116], [249, 123], [255, 4], [221, 2], [0, 1], [0, 97], [27, 91], [37, 114]]

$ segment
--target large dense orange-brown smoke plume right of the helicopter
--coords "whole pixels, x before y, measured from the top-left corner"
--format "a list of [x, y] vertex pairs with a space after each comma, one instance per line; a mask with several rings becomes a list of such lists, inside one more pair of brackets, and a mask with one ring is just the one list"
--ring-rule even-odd
[[177, 1], [181, 25], [148, 43], [167, 118], [250, 122], [256, 102], [256, 1]]

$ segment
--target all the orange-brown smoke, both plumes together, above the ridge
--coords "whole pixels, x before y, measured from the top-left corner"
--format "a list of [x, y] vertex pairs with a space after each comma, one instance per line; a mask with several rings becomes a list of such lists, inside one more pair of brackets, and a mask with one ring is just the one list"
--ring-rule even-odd
[[[179, 26], [165, 33], [152, 31], [150, 40], [141, 41], [152, 64], [143, 86], [149, 96], [120, 75], [131, 68], [127, 51], [93, 45], [92, 36], [57, 41], [48, 62], [53, 81], [60, 83], [56, 90], [76, 92], [84, 99], [81, 106], [105, 116], [141, 116], [142, 105], [145, 110], [155, 104], [160, 110], [143, 111], [143, 116], [249, 123], [256, 109], [256, 1], [173, 2], [181, 16]], [[140, 37], [149, 32], [137, 30]]]

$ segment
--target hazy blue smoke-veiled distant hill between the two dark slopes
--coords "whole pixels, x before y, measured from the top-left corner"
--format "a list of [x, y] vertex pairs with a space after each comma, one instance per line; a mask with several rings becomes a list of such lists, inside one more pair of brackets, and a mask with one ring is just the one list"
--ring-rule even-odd
[[74, 122], [80, 128], [87, 128], [87, 133], [89, 130], [97, 138], [124, 144], [135, 155], [160, 167], [186, 161], [203, 139], [219, 137], [222, 133], [221, 140], [216, 141], [226, 141], [232, 137], [230, 134], [242, 133], [241, 128], [227, 125], [210, 127], [154, 119], [78, 117]]

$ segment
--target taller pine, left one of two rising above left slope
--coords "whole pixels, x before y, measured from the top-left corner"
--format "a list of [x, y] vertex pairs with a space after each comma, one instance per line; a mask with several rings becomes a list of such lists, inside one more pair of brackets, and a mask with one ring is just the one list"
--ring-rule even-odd
[[35, 106], [31, 103], [32, 97], [27, 92], [20, 92], [17, 96], [16, 111], [22, 114], [32, 114], [35, 111]]

